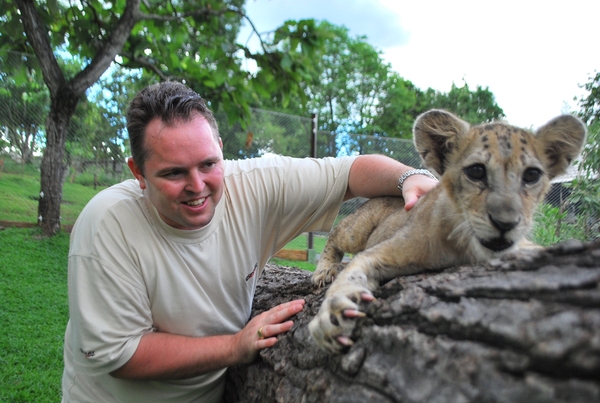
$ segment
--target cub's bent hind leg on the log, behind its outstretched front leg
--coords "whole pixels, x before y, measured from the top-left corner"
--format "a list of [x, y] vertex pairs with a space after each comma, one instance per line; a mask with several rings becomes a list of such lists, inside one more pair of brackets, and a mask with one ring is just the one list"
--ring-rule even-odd
[[367, 201], [340, 221], [323, 248], [312, 277], [313, 284], [321, 286], [332, 282], [344, 267], [344, 253], [365, 250], [369, 237], [379, 224], [394, 211], [403, 208], [401, 197], [378, 197]]

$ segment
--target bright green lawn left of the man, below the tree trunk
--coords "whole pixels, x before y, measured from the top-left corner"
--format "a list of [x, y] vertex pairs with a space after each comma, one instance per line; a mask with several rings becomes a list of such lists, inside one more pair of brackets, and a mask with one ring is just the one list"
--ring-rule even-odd
[[0, 402], [59, 402], [68, 234], [0, 231]]

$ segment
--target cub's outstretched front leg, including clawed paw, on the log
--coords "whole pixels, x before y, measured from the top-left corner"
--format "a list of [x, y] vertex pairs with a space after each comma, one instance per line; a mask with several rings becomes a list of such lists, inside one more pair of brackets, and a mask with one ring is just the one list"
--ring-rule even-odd
[[371, 291], [382, 280], [422, 270], [421, 265], [409, 260], [417, 252], [410, 244], [398, 233], [352, 259], [327, 290], [319, 312], [309, 324], [310, 333], [319, 346], [335, 352], [352, 344], [354, 318], [364, 316], [359, 311], [359, 302], [373, 300]]

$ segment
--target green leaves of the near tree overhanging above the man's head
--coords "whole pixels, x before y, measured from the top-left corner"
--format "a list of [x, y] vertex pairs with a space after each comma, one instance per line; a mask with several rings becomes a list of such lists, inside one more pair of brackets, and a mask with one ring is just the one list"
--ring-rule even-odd
[[[132, 1], [42, 0], [36, 10], [51, 32], [49, 39], [55, 49], [85, 61], [85, 65], [114, 39], [111, 35]], [[330, 37], [328, 31], [313, 20], [286, 21], [263, 36], [263, 49], [250, 52], [236, 43], [243, 4], [244, 0], [141, 2], [140, 19], [130, 32], [120, 33], [127, 35], [127, 40], [118, 60], [124, 67], [142, 69], [146, 77], [155, 77], [150, 81], [185, 80], [212, 105], [223, 106], [236, 121], [247, 118], [250, 105], [262, 97], [276, 97], [283, 105], [292, 98], [305, 99], [300, 82], [310, 76], [310, 58]], [[0, 10], [5, 12], [0, 46], [14, 49], [12, 38], [20, 36], [21, 50], [33, 53], [14, 0], [3, 2]], [[247, 69], [246, 58], [256, 62], [257, 70]], [[75, 73], [65, 76], [74, 77]]]

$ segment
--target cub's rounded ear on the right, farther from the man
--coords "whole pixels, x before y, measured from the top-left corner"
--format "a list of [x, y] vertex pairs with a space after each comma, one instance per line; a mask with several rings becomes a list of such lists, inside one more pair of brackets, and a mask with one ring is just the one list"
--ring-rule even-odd
[[579, 155], [586, 133], [585, 125], [571, 115], [556, 117], [538, 129], [536, 148], [550, 179], [564, 173]]

